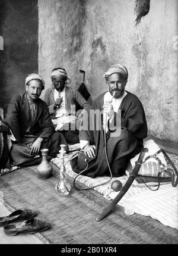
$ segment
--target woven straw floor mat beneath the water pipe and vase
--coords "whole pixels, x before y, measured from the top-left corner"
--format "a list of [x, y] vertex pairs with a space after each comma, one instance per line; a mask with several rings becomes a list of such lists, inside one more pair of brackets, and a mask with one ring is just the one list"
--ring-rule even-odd
[[[47, 180], [38, 179], [37, 166], [20, 168], [0, 177], [0, 195], [9, 210], [36, 208], [36, 218], [51, 223], [49, 230], [36, 233], [43, 243], [178, 243], [176, 229], [140, 214], [127, 216], [119, 205], [102, 221], [96, 221], [109, 201], [94, 189], [76, 191], [70, 176], [67, 178], [71, 192], [68, 196], [59, 196], [55, 191], [59, 168], [52, 166], [53, 175]], [[77, 181], [77, 186], [84, 188], [85, 185]]]

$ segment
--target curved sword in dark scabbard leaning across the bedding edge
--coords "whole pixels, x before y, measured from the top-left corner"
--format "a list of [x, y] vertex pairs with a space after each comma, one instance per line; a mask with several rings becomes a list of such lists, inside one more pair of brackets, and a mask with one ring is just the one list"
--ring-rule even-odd
[[119, 192], [118, 195], [116, 195], [116, 197], [113, 199], [112, 202], [110, 202], [108, 205], [106, 205], [106, 207], [104, 208], [104, 210], [101, 212], [100, 216], [98, 216], [96, 218], [97, 221], [103, 220], [103, 218], [110, 213], [110, 211], [113, 210], [113, 208], [115, 207], [115, 205], [117, 204], [117, 202], [120, 201], [120, 199], [125, 195], [125, 193], [128, 191], [128, 189], [130, 188], [130, 186], [132, 185], [132, 183], [134, 182], [134, 179], [136, 177], [136, 175], [138, 174], [139, 168], [141, 167], [142, 161], [144, 160], [144, 155], [145, 152], [148, 152], [148, 148], [144, 148], [142, 149], [138, 161], [135, 164], [134, 170], [132, 171], [132, 173], [130, 174], [128, 180], [126, 181], [125, 185], [123, 186], [123, 188], [121, 189], [121, 191]]

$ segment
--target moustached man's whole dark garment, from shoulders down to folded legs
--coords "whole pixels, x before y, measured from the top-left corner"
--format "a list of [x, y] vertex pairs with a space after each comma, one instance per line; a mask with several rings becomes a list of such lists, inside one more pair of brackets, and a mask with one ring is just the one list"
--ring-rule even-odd
[[49, 148], [49, 159], [58, 154], [61, 143], [66, 143], [63, 135], [55, 132], [48, 107], [42, 99], [36, 100], [34, 117], [30, 120], [27, 93], [14, 95], [9, 102], [4, 121], [17, 140], [12, 143], [11, 148], [11, 157], [16, 165], [30, 166], [42, 161], [41, 157], [34, 158], [30, 155], [30, 147], [39, 137], [43, 138], [41, 148]]

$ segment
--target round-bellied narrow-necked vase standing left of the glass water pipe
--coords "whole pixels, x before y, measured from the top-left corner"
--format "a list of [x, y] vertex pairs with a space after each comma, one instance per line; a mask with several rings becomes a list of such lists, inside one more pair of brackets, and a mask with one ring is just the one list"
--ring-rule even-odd
[[42, 152], [42, 163], [37, 167], [37, 175], [40, 179], [48, 179], [53, 171], [53, 167], [47, 161], [48, 149], [43, 148], [40, 150]]

